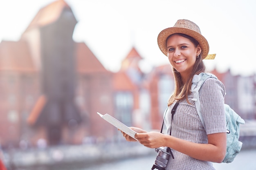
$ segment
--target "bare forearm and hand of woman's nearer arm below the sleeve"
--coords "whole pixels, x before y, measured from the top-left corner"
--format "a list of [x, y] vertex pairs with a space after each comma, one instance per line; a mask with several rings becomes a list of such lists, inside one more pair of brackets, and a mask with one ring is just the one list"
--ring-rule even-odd
[[149, 148], [167, 146], [195, 159], [222, 162], [226, 154], [226, 133], [207, 135], [208, 144], [197, 144], [159, 132], [137, 133], [136, 139]]

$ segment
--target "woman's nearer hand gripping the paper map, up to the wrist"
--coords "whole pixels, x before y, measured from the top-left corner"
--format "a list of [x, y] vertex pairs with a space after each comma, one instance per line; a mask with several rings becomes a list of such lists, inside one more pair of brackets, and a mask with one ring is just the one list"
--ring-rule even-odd
[[164, 145], [164, 134], [160, 132], [136, 133], [135, 138], [148, 148], [159, 148]]

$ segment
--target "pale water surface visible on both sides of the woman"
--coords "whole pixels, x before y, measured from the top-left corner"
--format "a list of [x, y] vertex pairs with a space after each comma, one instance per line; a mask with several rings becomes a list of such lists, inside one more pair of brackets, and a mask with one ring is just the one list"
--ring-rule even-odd
[[[156, 155], [103, 163], [77, 170], [151, 170]], [[213, 163], [216, 170], [256, 170], [256, 149], [242, 150], [232, 163]]]

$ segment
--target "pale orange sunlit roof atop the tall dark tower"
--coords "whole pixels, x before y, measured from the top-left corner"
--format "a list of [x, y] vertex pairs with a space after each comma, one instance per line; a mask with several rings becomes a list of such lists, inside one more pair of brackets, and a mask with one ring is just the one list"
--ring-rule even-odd
[[30, 22], [25, 32], [29, 29], [42, 27], [55, 22], [60, 17], [64, 8], [71, 10], [70, 6], [64, 0], [56, 0], [41, 8], [34, 19]]

